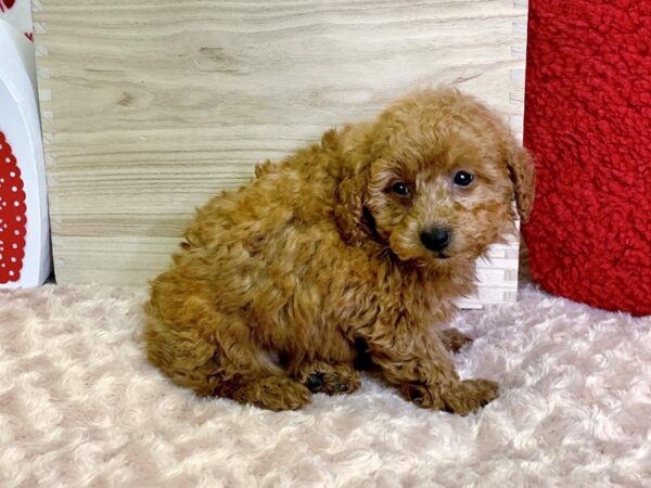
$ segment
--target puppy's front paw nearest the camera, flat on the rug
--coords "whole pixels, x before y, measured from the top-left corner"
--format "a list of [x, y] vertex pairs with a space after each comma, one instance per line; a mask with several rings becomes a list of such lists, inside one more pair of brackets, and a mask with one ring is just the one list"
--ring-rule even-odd
[[400, 391], [418, 407], [468, 415], [498, 396], [499, 386], [488, 380], [465, 380], [455, 386], [405, 384]]

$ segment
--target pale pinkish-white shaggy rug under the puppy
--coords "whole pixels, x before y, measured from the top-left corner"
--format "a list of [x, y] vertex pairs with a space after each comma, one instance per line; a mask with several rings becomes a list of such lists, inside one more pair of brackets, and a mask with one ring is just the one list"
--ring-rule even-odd
[[651, 318], [525, 285], [464, 312], [462, 376], [501, 397], [467, 418], [366, 376], [273, 413], [200, 400], [151, 368], [143, 290], [0, 292], [2, 487], [651, 486]]

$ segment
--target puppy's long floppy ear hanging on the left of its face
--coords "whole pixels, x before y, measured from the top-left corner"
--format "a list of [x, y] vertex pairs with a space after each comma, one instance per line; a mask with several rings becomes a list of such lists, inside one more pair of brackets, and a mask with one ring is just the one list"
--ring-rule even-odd
[[342, 131], [334, 219], [342, 239], [359, 245], [372, 233], [365, 215], [371, 165], [372, 125], [346, 126]]

